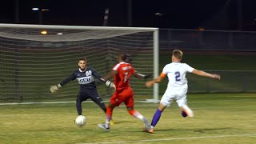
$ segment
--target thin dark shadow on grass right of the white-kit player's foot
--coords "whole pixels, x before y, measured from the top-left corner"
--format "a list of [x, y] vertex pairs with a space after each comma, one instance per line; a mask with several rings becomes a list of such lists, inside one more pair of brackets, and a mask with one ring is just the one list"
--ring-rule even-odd
[[221, 128], [205, 128], [205, 129], [160, 129], [156, 131], [193, 131], [197, 133], [206, 133], [210, 131], [215, 131], [215, 130], [230, 130], [230, 127], [221, 127]]

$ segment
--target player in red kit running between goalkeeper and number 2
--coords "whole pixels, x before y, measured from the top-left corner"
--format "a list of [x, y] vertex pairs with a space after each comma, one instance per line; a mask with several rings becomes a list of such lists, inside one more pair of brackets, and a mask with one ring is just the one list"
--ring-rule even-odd
[[110, 98], [108, 106], [106, 106], [106, 123], [98, 124], [98, 127], [103, 130], [110, 130], [110, 119], [114, 107], [119, 106], [122, 102], [125, 103], [130, 115], [138, 118], [144, 123], [145, 129], [150, 129], [150, 124], [147, 118], [143, 117], [138, 111], [134, 110], [134, 91], [130, 87], [130, 76], [134, 75], [136, 78], [148, 78], [150, 75], [138, 74], [130, 63], [126, 62], [126, 54], [118, 54], [118, 64], [114, 66], [111, 73], [104, 77], [105, 80], [114, 76], [115, 92]]

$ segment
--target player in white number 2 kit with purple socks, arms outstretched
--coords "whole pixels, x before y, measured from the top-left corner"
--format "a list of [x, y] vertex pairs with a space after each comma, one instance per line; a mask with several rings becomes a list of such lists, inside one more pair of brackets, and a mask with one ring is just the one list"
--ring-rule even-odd
[[146, 132], [153, 133], [154, 126], [158, 123], [162, 111], [166, 108], [166, 106], [170, 106], [170, 103], [176, 100], [178, 106], [182, 109], [182, 116], [193, 117], [193, 111], [187, 106], [186, 102], [186, 93], [187, 93], [187, 80], [186, 73], [197, 74], [199, 76], [208, 77], [208, 78], [216, 78], [220, 80], [220, 75], [218, 74], [209, 74], [202, 70], [196, 70], [193, 67], [187, 65], [186, 63], [181, 63], [182, 60], [182, 51], [174, 50], [172, 54], [172, 62], [166, 64], [163, 68], [162, 73], [158, 76], [158, 78], [154, 78], [151, 81], [146, 82], [146, 86], [153, 86], [154, 83], [162, 82], [163, 78], [166, 76], [169, 79], [167, 89], [165, 94], [163, 94], [160, 104], [158, 106], [158, 110], [154, 113], [154, 117], [151, 122], [151, 129], [146, 130]]

